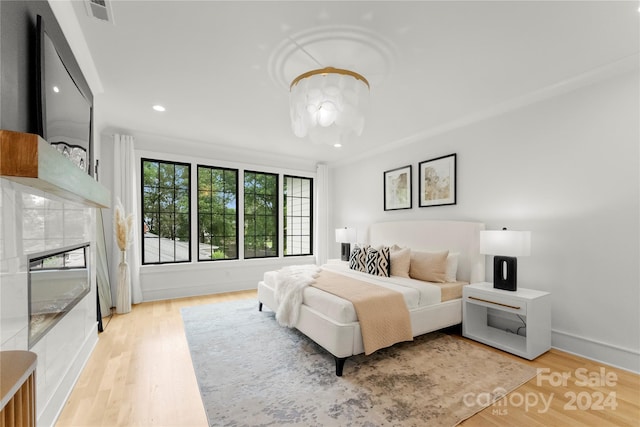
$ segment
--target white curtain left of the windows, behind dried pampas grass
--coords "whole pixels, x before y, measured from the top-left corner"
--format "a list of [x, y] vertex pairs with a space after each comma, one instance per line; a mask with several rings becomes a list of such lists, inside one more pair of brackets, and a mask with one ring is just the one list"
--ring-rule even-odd
[[[140, 213], [138, 209], [138, 191], [136, 180], [136, 162], [133, 137], [129, 135], [113, 136], [113, 194], [111, 203], [118, 199], [122, 202], [124, 212], [133, 214], [133, 242], [127, 250], [127, 262], [131, 274], [131, 302], [142, 302], [140, 287]], [[111, 265], [117, 268], [120, 260], [120, 249], [113, 245]], [[117, 274], [112, 277], [118, 277]]]

